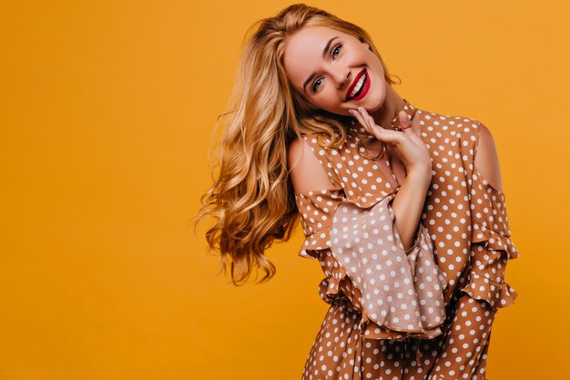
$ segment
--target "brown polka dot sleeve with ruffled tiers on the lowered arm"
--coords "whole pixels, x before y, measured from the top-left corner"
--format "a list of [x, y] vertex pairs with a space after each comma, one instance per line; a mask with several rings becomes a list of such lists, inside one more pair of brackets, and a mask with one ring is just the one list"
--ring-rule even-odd
[[507, 261], [520, 252], [510, 239], [504, 192], [494, 189], [477, 169], [473, 171], [471, 221], [471, 271], [462, 291], [494, 309], [510, 306], [518, 293], [504, 281], [504, 271]]

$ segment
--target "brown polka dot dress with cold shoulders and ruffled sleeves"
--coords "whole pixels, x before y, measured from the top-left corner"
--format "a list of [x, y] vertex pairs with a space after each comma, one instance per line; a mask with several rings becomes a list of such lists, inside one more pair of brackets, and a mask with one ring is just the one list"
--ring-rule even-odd
[[[331, 304], [302, 380], [486, 380], [495, 313], [517, 296], [504, 281], [507, 260], [520, 254], [504, 193], [474, 167], [482, 123], [405, 99], [402, 109], [419, 118], [433, 168], [407, 251], [394, 227], [399, 188], [389, 165], [359, 154], [353, 128], [339, 148], [303, 136], [334, 188], [295, 193], [306, 236], [299, 254], [321, 263], [319, 292]], [[401, 129], [397, 117], [391, 128]]]

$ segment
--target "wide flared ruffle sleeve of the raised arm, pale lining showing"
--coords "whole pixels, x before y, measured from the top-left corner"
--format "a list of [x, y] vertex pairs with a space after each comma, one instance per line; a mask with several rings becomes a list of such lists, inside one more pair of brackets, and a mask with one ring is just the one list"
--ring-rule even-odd
[[305, 233], [299, 254], [320, 261], [326, 275], [319, 286], [323, 301], [361, 313], [365, 338], [443, 334], [447, 282], [422, 223], [404, 250], [394, 224], [395, 193], [349, 200], [342, 189], [329, 189], [296, 196]]

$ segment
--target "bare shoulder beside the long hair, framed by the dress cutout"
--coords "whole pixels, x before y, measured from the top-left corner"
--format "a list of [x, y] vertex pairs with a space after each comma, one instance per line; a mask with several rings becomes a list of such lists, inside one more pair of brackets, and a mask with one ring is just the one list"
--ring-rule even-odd
[[337, 189], [304, 139], [294, 139], [287, 156], [290, 180], [295, 192]]

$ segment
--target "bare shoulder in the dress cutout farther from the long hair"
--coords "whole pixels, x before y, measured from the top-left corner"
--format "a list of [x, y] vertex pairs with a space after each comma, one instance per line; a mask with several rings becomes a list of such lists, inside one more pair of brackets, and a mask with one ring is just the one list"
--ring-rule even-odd
[[473, 165], [494, 189], [503, 191], [501, 169], [493, 135], [483, 123], [480, 122], [479, 125], [479, 138], [477, 139]]

